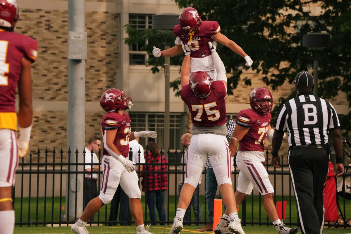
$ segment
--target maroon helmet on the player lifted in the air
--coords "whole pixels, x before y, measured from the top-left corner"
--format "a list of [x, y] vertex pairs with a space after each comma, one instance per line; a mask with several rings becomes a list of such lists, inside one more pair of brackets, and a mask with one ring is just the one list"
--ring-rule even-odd
[[200, 22], [200, 15], [195, 8], [187, 7], [179, 15], [179, 25], [185, 33], [190, 30], [196, 32], [200, 29]]

